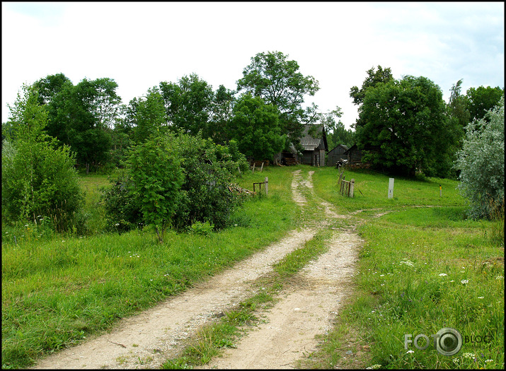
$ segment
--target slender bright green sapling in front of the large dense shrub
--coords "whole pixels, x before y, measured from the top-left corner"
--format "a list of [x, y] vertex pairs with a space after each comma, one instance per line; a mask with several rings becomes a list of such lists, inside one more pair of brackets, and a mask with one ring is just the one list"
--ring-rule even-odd
[[178, 209], [184, 181], [181, 158], [172, 143], [151, 136], [132, 148], [127, 164], [132, 192], [146, 225], [154, 225], [160, 243]]

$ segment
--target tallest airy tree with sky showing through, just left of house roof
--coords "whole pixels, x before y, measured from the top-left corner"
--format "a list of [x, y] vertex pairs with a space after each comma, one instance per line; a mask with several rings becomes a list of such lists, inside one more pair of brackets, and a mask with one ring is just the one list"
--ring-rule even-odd
[[277, 107], [282, 134], [299, 145], [303, 124], [314, 122], [316, 105], [302, 108], [304, 96], [314, 96], [319, 90], [313, 76], [299, 72], [297, 61], [289, 61], [282, 52], [258, 53], [243, 70], [243, 78], [237, 81], [237, 90], [262, 98], [266, 104]]

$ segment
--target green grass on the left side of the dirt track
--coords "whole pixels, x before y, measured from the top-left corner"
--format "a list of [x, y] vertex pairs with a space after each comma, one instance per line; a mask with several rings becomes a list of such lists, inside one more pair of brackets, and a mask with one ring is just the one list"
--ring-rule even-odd
[[[297, 208], [284, 192], [291, 179], [279, 168], [265, 174], [272, 179], [269, 196], [247, 201], [234, 216], [234, 228], [209, 236], [169, 232], [159, 245], [149, 228], [91, 237], [42, 238], [30, 232], [33, 238], [16, 243], [4, 232], [3, 367], [33, 365], [279, 240], [297, 220]], [[246, 187], [256, 176], [240, 181]], [[96, 200], [105, 182], [94, 175], [83, 184]]]

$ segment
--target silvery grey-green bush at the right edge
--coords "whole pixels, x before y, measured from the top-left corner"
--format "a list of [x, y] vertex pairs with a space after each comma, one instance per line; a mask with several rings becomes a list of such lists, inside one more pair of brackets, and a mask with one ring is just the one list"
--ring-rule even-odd
[[504, 97], [483, 119], [466, 126], [455, 166], [460, 170], [459, 189], [469, 201], [472, 218], [491, 218], [501, 207], [504, 213]]

